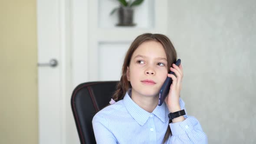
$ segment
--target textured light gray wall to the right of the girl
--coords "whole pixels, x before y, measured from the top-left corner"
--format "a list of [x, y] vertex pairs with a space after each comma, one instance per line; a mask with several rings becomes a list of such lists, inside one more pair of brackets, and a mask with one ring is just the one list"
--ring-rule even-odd
[[256, 0], [170, 0], [181, 97], [209, 144], [256, 144]]

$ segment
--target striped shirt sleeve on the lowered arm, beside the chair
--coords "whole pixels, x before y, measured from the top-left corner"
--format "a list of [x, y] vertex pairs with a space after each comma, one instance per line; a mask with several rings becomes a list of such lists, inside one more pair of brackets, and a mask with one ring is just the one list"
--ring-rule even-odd
[[108, 129], [106, 118], [96, 114], [92, 119], [92, 127], [97, 144], [117, 144], [114, 134]]

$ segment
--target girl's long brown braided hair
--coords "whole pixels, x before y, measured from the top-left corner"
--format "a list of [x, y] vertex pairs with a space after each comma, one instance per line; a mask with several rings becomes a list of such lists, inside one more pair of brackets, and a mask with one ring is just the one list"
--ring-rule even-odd
[[[132, 56], [133, 52], [135, 52], [135, 50], [138, 48], [138, 46], [145, 41], [156, 41], [156, 42], [159, 42], [162, 44], [162, 46], [164, 47], [166, 56], [167, 56], [167, 63], [168, 63], [167, 68], [170, 68], [170, 66], [174, 62], [176, 62], [176, 60], [177, 60], [176, 50], [174, 49], [173, 44], [171, 43], [170, 39], [167, 38], [167, 36], [162, 35], [162, 34], [152, 34], [152, 33], [144, 33], [144, 34], [138, 36], [131, 43], [131, 46], [126, 53], [124, 64], [122, 67], [121, 79], [117, 85], [117, 90], [115, 91], [115, 93], [113, 95], [113, 99], [115, 101], [119, 101], [119, 100], [123, 99], [127, 90], [129, 88], [131, 88], [131, 83], [128, 82], [128, 79], [126, 76], [127, 67], [130, 65], [131, 56]], [[168, 139], [170, 134], [171, 134], [171, 128], [170, 128], [170, 126], [168, 126], [167, 131], [164, 136], [164, 142]]]

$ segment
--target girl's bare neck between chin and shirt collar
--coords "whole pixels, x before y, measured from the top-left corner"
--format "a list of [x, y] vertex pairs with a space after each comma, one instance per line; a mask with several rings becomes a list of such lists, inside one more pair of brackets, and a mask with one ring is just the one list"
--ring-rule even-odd
[[141, 95], [131, 91], [131, 99], [145, 111], [152, 112], [158, 105], [158, 96]]

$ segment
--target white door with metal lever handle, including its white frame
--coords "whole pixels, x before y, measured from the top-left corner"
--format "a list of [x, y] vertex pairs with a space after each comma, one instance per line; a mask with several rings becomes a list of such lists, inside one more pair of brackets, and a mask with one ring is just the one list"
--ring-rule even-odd
[[39, 144], [66, 144], [70, 91], [64, 0], [37, 0]]

